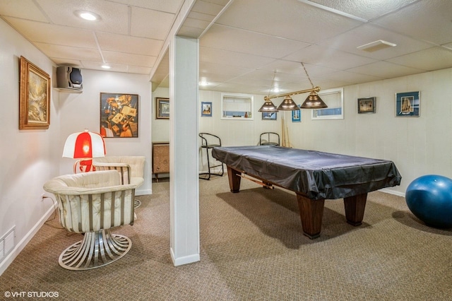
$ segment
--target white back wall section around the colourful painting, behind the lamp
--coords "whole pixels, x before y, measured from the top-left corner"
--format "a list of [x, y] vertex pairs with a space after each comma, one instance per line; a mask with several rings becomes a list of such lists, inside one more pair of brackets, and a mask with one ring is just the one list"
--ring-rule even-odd
[[[54, 146], [57, 153], [63, 153], [67, 136], [84, 129], [100, 132], [100, 93], [138, 94], [138, 138], [105, 138], [108, 155], [144, 155], [145, 181], [136, 189], [137, 195], [151, 193], [151, 143], [150, 143], [150, 83], [148, 76], [108, 71], [82, 70], [83, 92], [59, 92], [59, 114], [61, 143]], [[55, 90], [58, 93], [57, 90]], [[59, 155], [61, 158], [61, 155]], [[73, 172], [74, 160], [61, 158], [59, 173]]]

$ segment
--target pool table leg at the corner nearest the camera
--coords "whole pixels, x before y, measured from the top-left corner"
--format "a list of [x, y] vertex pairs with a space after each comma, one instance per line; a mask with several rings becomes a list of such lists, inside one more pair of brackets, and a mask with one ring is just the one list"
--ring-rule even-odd
[[325, 199], [312, 200], [302, 194], [297, 194], [297, 201], [303, 234], [314, 240], [320, 236]]

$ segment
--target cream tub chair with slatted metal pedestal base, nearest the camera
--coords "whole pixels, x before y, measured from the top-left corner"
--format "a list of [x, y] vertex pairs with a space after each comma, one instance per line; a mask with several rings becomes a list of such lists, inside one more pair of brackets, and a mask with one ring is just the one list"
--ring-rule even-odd
[[131, 249], [132, 242], [110, 228], [133, 225], [137, 184], [122, 184], [116, 170], [62, 175], [44, 184], [58, 201], [61, 225], [69, 232], [84, 233], [59, 256], [69, 270], [87, 270], [111, 264]]

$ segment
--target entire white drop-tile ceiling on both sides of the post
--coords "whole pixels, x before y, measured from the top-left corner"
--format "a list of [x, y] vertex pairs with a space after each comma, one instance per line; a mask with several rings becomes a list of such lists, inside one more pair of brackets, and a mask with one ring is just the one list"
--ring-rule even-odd
[[[452, 67], [451, 0], [1, 0], [0, 17], [57, 65], [141, 73], [167, 85], [167, 38], [200, 38], [207, 90], [322, 89]], [[95, 22], [74, 11], [93, 11]], [[174, 28], [173, 28], [174, 30]], [[375, 52], [357, 47], [385, 40]], [[274, 78], [274, 79], [273, 79]]]

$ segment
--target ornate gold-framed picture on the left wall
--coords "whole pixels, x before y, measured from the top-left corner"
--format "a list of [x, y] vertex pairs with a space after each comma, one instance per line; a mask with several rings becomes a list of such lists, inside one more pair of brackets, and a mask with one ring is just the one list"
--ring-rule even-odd
[[49, 129], [50, 76], [20, 57], [19, 129]]

